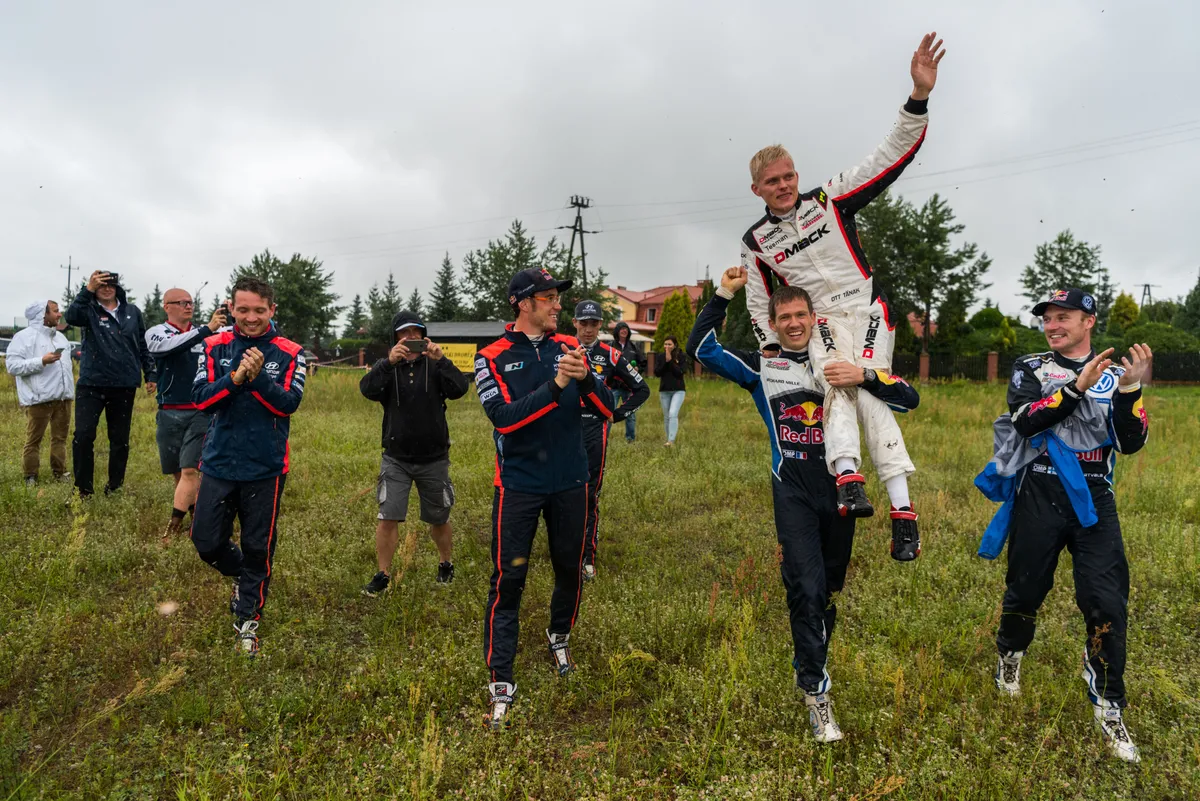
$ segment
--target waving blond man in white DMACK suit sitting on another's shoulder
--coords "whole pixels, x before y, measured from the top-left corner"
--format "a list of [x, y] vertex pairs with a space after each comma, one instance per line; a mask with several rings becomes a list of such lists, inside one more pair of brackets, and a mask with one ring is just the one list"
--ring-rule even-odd
[[[936, 34], [925, 35], [912, 55], [912, 95], [895, 127], [865, 161], [809, 192], [791, 155], [780, 145], [755, 153], [750, 189], [767, 203], [767, 213], [742, 237], [742, 263], [750, 272], [746, 307], [764, 350], [778, 348], [767, 325], [767, 307], [778, 284], [805, 289], [812, 297], [816, 326], [809, 354], [818, 379], [835, 361], [888, 371], [898, 323], [887, 299], [875, 288], [871, 267], [858, 241], [854, 215], [900, 176], [925, 139], [929, 94], [946, 55]], [[826, 383], [827, 384], [827, 383]], [[826, 385], [826, 463], [838, 476], [838, 510], [848, 517], [875, 513], [859, 472], [858, 423], [892, 500], [892, 555], [911, 561], [920, 553], [917, 514], [908, 498], [916, 471], [900, 428], [887, 404], [857, 389]]]

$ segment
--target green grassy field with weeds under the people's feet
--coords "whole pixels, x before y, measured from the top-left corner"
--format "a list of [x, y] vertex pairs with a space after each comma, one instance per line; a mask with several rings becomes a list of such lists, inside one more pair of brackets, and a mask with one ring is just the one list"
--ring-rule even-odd
[[[410, 524], [403, 574], [365, 598], [379, 410], [356, 378], [313, 377], [294, 418], [264, 658], [250, 662], [233, 650], [227, 582], [186, 537], [160, 537], [170, 481], [150, 399], [138, 399], [126, 490], [68, 508], [66, 487], [20, 486], [24, 418], [0, 377], [0, 800], [1200, 797], [1195, 389], [1148, 393], [1150, 445], [1117, 472], [1133, 573], [1127, 719], [1144, 755], [1126, 766], [1092, 728], [1067, 554], [1025, 694], [1004, 700], [991, 683], [1003, 560], [974, 555], [994, 506], [971, 480], [1001, 387], [930, 386], [902, 420], [924, 552], [898, 565], [886, 518], [859, 526], [829, 666], [847, 736], [818, 747], [791, 683], [766, 434], [743, 392], [690, 383], [674, 450], [661, 447], [656, 398], [635, 445], [614, 438], [600, 580], [565, 681], [544, 648], [552, 573], [539, 537], [518, 724], [492, 735], [490, 427], [473, 396], [451, 404], [456, 582], [434, 586], [433, 547]], [[869, 492], [883, 502], [874, 481]], [[178, 612], [160, 614], [164, 602]]]

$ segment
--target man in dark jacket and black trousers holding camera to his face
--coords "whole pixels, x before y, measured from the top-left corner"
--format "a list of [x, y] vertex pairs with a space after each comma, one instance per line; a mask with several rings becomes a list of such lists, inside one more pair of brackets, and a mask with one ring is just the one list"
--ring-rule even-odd
[[133, 396], [145, 377], [146, 392], [155, 393], [155, 365], [146, 348], [142, 309], [125, 297], [119, 276], [97, 270], [67, 307], [67, 324], [83, 332], [79, 385], [76, 393], [76, 435], [71, 441], [76, 489], [92, 494], [96, 428], [100, 415], [108, 423], [108, 483], [113, 493], [125, 483], [130, 458]]

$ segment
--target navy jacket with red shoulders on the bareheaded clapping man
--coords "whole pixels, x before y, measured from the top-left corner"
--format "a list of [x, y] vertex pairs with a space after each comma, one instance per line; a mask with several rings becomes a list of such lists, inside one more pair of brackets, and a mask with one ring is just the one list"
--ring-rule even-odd
[[[263, 369], [241, 386], [233, 373], [242, 354], [258, 348]], [[192, 401], [212, 415], [200, 472], [224, 481], [262, 481], [288, 471], [288, 423], [304, 397], [305, 357], [271, 324], [260, 337], [234, 326], [204, 341]]]

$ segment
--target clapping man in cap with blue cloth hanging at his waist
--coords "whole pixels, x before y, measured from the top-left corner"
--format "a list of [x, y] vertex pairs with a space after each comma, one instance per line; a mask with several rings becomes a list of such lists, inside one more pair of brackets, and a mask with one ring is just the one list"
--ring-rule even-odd
[[[1009, 415], [996, 421], [997, 444], [1000, 434], [1008, 432], [1003, 439], [1031, 448], [1030, 460], [1018, 474], [1008, 525], [996, 688], [1009, 697], [1020, 693], [1021, 658], [1033, 642], [1038, 609], [1054, 585], [1058, 554], [1066, 547], [1075, 574], [1075, 602], [1087, 626], [1084, 680], [1097, 725], [1115, 757], [1138, 761], [1121, 713], [1129, 566], [1112, 494], [1112, 466], [1118, 452], [1135, 453], [1146, 444], [1141, 378], [1152, 354], [1148, 347], [1135, 344], [1118, 367], [1110, 359], [1111, 348], [1094, 353], [1096, 299], [1081, 289], [1052, 290], [1033, 313], [1043, 320], [1050, 350], [1016, 360], [1008, 384]], [[1060, 426], [1103, 445], [1063, 454], [1057, 447]]]

